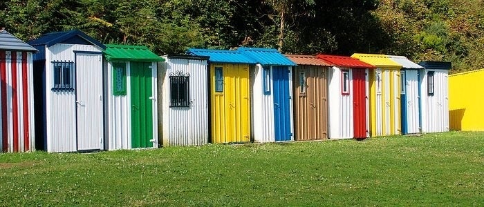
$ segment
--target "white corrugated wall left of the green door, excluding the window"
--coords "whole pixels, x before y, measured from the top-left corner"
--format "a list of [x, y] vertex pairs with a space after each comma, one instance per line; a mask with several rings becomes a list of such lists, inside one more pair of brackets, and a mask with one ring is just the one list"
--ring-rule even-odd
[[[129, 74], [129, 62], [122, 62], [126, 67], [126, 74]], [[129, 149], [131, 148], [131, 106], [129, 104], [129, 78], [127, 78], [127, 95], [113, 95], [113, 64], [112, 62], [105, 62], [104, 65], [105, 81], [104, 88], [106, 89], [106, 127], [107, 127], [107, 149]]]

